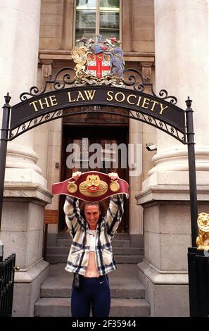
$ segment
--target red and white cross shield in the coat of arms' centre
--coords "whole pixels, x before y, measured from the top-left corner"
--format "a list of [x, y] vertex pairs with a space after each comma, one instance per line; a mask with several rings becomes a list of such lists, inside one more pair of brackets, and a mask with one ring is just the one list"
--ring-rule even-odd
[[101, 54], [88, 54], [87, 60], [87, 73], [97, 78], [105, 77], [111, 72], [110, 55]]

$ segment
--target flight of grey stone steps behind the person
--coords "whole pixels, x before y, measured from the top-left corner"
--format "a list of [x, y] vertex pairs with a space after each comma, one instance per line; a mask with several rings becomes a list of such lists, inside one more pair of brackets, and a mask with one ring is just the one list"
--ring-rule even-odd
[[[42, 284], [40, 299], [34, 306], [34, 316], [70, 316], [72, 273], [65, 271], [72, 239], [68, 232], [57, 236], [56, 246], [48, 246], [46, 261], [49, 277]], [[113, 239], [113, 254], [117, 270], [109, 273], [111, 292], [111, 316], [149, 316], [149, 305], [145, 298], [137, 273], [137, 263], [144, 258], [144, 247], [130, 246], [127, 233], [117, 233]]]

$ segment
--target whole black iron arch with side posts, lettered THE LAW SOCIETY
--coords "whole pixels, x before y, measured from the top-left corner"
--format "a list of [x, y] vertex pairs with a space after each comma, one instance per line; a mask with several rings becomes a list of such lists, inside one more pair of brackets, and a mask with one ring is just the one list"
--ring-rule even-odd
[[[37, 87], [32, 87], [30, 92], [22, 93], [19, 104], [11, 107], [11, 97], [5, 96], [0, 147], [0, 226], [7, 141], [37, 125], [66, 115], [87, 112], [113, 113], [153, 125], [182, 144], [188, 145], [191, 233], [195, 245], [197, 197], [191, 100], [186, 101], [187, 109], [184, 111], [177, 106], [177, 98], [168, 96], [165, 89], [157, 96], [153, 92], [152, 84], [148, 80], [144, 82], [139, 71], [125, 70], [124, 75], [124, 80], [117, 77], [116, 80], [114, 77], [109, 80], [89, 80], [85, 77], [79, 79], [74, 77], [74, 69], [62, 68], [56, 73], [54, 80], [46, 81], [42, 92], [39, 92]], [[144, 92], [146, 88], [151, 94]], [[123, 109], [122, 113], [117, 110], [118, 107]]]

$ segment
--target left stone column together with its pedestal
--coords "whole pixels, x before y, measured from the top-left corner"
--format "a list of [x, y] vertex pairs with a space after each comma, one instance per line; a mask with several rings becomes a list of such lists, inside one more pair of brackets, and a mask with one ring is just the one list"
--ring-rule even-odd
[[[0, 96], [19, 95], [37, 85], [40, 0], [5, 0], [0, 4]], [[33, 316], [39, 285], [48, 272], [42, 258], [44, 206], [51, 201], [37, 166], [30, 130], [8, 144], [1, 240], [4, 258], [16, 254], [13, 316]]]

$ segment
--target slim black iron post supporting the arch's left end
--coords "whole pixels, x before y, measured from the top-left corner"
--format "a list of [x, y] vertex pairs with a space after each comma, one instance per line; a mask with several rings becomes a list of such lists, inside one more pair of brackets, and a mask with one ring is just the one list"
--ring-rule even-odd
[[[3, 207], [3, 199], [4, 199], [4, 176], [5, 176], [5, 167], [6, 167], [6, 148], [8, 141], [8, 123], [11, 106], [9, 105], [9, 101], [11, 100], [11, 96], [7, 93], [4, 96], [5, 104], [3, 106], [3, 118], [1, 125], [1, 145], [0, 145], [0, 231], [1, 231], [1, 215], [2, 215], [2, 207]], [[3, 261], [4, 255], [4, 246], [0, 240], [0, 261]]]

